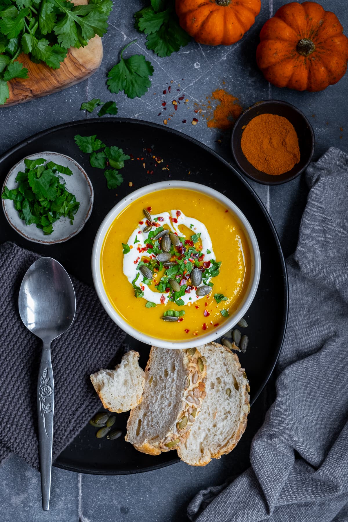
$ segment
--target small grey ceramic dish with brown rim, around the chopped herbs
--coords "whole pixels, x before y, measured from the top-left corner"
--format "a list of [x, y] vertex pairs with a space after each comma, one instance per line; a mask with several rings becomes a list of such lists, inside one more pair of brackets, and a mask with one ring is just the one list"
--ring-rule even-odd
[[26, 223], [20, 219], [19, 214], [15, 209], [14, 202], [10, 199], [2, 199], [5, 217], [10, 226], [28, 241], [51, 245], [55, 243], [64, 243], [82, 230], [91, 215], [94, 199], [92, 183], [81, 165], [76, 163], [75, 160], [59, 152], [46, 151], [31, 154], [19, 161], [7, 174], [2, 193], [4, 192], [5, 185], [8, 189], [17, 187], [16, 176], [18, 172], [23, 172], [26, 169], [24, 160], [33, 160], [36, 158], [44, 158], [47, 161], [53, 161], [59, 165], [63, 165], [63, 167], [68, 167], [73, 172], [72, 176], [59, 174], [66, 181], [67, 191], [75, 194], [76, 200], [80, 202], [80, 207], [74, 216], [73, 224], [70, 224], [69, 218], [61, 218], [53, 223], [52, 234], [44, 235], [43, 231], [37, 228], [35, 224], [26, 225]]

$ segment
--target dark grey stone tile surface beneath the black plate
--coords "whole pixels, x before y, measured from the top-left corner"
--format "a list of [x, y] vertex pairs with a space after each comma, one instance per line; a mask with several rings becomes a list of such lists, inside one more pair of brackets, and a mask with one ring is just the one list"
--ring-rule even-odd
[[[323, 7], [334, 11], [343, 26], [348, 26], [346, 0], [321, 0]], [[255, 61], [259, 31], [283, 0], [262, 0], [261, 13], [242, 42], [231, 47], [207, 48], [190, 43], [171, 57], [158, 58], [147, 52], [145, 38], [133, 28], [132, 15], [144, 3], [131, 0], [121, 6], [115, 2], [109, 32], [103, 39], [104, 59], [99, 71], [79, 85], [37, 101], [0, 109], [0, 153], [18, 141], [51, 126], [80, 120], [81, 102], [91, 98], [115, 100], [118, 115], [162, 123], [170, 111], [162, 109], [162, 101], [176, 98], [176, 89], [189, 99], [179, 105], [169, 127], [186, 133], [218, 151], [231, 161], [229, 133], [207, 128], [205, 120], [191, 125], [195, 117], [194, 103], [204, 101], [211, 92], [223, 87], [239, 98], [244, 107], [259, 100], [279, 99], [296, 105], [309, 118], [316, 134], [315, 159], [329, 146], [348, 152], [348, 75], [337, 85], [319, 93], [278, 89], [267, 84]], [[111, 94], [105, 86], [107, 71], [116, 63], [119, 50], [128, 42], [137, 43], [126, 56], [145, 54], [154, 66], [152, 86], [141, 99], [129, 100], [123, 93]], [[171, 95], [162, 91], [173, 80]], [[223, 84], [225, 82], [225, 84]], [[180, 85], [179, 85], [180, 84]], [[158, 114], [161, 112], [161, 115]], [[187, 123], [182, 123], [186, 119]], [[340, 131], [343, 128], [343, 132]], [[341, 138], [342, 137], [342, 138]], [[218, 140], [221, 139], [221, 143]], [[306, 202], [306, 187], [302, 179], [266, 187], [253, 183], [266, 205], [280, 234], [285, 255], [295, 247], [302, 210]], [[273, 393], [272, 384], [251, 409], [249, 424], [238, 447], [221, 460], [205, 468], [190, 468], [182, 463], [148, 473], [121, 477], [81, 476], [53, 469], [52, 497], [49, 513], [41, 511], [40, 476], [17, 457], [0, 468], [0, 520], [2, 522], [176, 522], [186, 519], [186, 505], [200, 488], [223, 483], [248, 466], [251, 438], [262, 423]]]

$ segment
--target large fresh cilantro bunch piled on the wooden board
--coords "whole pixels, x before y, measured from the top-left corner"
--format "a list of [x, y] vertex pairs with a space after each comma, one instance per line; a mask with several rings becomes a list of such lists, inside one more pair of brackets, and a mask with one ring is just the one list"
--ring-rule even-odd
[[17, 61], [21, 53], [58, 69], [70, 47], [106, 32], [111, 10], [112, 0], [77, 6], [67, 0], [0, 0], [0, 104], [9, 97], [9, 80], [28, 78]]

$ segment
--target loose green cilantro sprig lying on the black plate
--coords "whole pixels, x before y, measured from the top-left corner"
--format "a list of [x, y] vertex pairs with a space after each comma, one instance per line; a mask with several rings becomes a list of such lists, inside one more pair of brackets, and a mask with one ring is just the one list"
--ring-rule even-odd
[[100, 139], [97, 139], [96, 134], [93, 136], [80, 136], [77, 134], [75, 143], [82, 152], [90, 153], [89, 162], [92, 167], [97, 169], [112, 167], [104, 171], [107, 188], [117, 188], [123, 183], [122, 174], [119, 174], [118, 171], [124, 168], [124, 162], [129, 160], [130, 156], [124, 154], [121, 148], [115, 146], [106, 147]]

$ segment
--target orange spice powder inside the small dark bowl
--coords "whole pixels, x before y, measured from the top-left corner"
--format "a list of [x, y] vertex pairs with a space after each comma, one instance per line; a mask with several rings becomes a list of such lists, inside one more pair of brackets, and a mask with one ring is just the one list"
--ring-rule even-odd
[[277, 114], [255, 116], [243, 131], [241, 146], [255, 169], [273, 176], [289, 172], [300, 159], [292, 123]]

